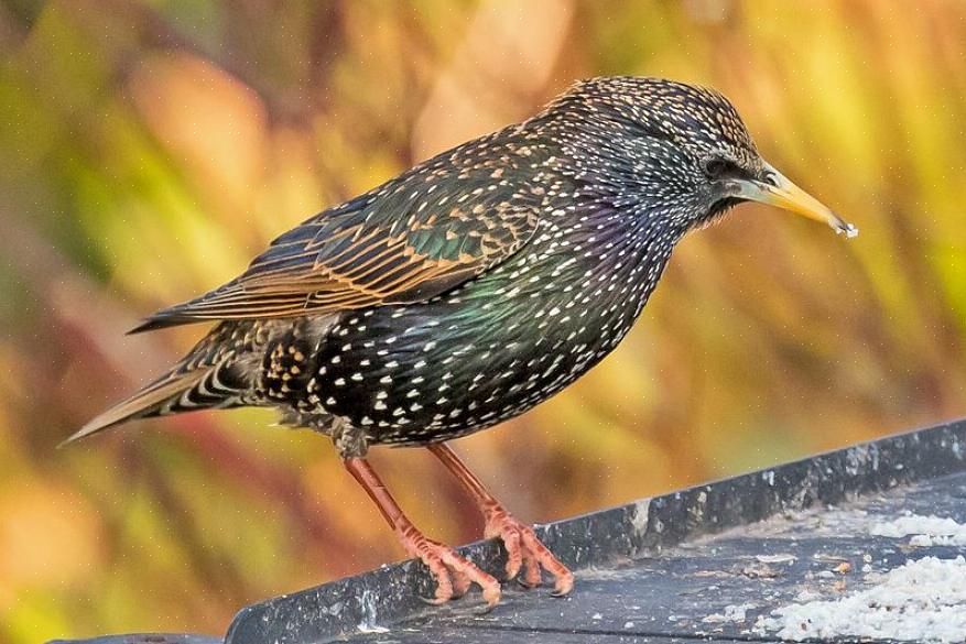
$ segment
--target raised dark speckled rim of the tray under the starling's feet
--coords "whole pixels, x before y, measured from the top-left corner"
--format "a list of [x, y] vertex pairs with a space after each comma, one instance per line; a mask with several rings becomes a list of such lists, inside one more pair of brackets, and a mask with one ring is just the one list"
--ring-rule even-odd
[[[777, 513], [838, 504], [964, 469], [966, 422], [883, 438], [578, 516], [541, 526], [538, 533], [564, 564], [576, 570], [612, 568], [621, 561], [658, 556], [686, 538], [748, 525]], [[460, 552], [488, 572], [499, 575], [502, 570], [501, 548], [492, 542], [473, 544]], [[656, 559], [658, 564], [661, 560]], [[585, 578], [578, 575], [578, 599], [572, 601], [587, 597]], [[527, 607], [550, 602], [551, 610], [556, 611], [569, 605], [545, 594], [525, 593], [533, 599], [522, 599], [507, 593], [495, 614], [522, 610], [521, 601]], [[431, 578], [421, 565], [409, 561], [246, 608], [232, 623], [227, 642], [296, 644], [346, 637], [427, 614], [427, 607], [419, 598], [431, 596]], [[459, 610], [465, 603], [455, 605]], [[432, 612], [436, 614], [437, 609]], [[536, 614], [532, 616], [536, 619]]]

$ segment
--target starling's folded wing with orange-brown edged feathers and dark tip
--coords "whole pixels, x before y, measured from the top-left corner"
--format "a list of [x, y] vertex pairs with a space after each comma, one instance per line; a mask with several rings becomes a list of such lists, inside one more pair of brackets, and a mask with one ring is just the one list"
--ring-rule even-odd
[[540, 188], [512, 185], [501, 167], [460, 171], [437, 162], [415, 168], [308, 219], [275, 239], [239, 277], [158, 312], [134, 331], [444, 293], [501, 263], [536, 229]]

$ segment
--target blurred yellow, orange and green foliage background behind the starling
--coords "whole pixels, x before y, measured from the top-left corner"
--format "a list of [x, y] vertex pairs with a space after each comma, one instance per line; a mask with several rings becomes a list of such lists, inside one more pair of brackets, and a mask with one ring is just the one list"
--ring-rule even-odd
[[[274, 236], [579, 77], [712, 85], [861, 229], [745, 205], [688, 237], [575, 386], [456, 444], [547, 521], [966, 413], [966, 3], [0, 3], [0, 641], [224, 632], [242, 603], [398, 559], [308, 432], [264, 411], [54, 446], [196, 326], [123, 334]], [[451, 543], [425, 450], [372, 461]]]

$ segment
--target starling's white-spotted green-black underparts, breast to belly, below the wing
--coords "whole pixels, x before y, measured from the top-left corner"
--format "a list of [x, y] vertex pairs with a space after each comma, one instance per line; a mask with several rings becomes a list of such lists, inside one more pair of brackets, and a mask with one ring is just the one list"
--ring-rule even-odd
[[427, 303], [343, 314], [300, 404], [375, 444], [420, 444], [549, 399], [630, 330], [670, 255], [590, 226], [544, 226], [510, 261]]

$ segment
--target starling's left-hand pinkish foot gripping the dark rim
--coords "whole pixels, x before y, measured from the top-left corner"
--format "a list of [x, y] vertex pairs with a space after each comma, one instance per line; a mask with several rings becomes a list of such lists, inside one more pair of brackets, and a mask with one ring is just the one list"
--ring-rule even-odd
[[412, 524], [400, 526], [397, 535], [406, 552], [425, 564], [436, 579], [436, 594], [427, 602], [441, 604], [463, 597], [473, 583], [482, 589], [487, 610], [500, 601], [500, 582], [449, 546], [426, 538]]

